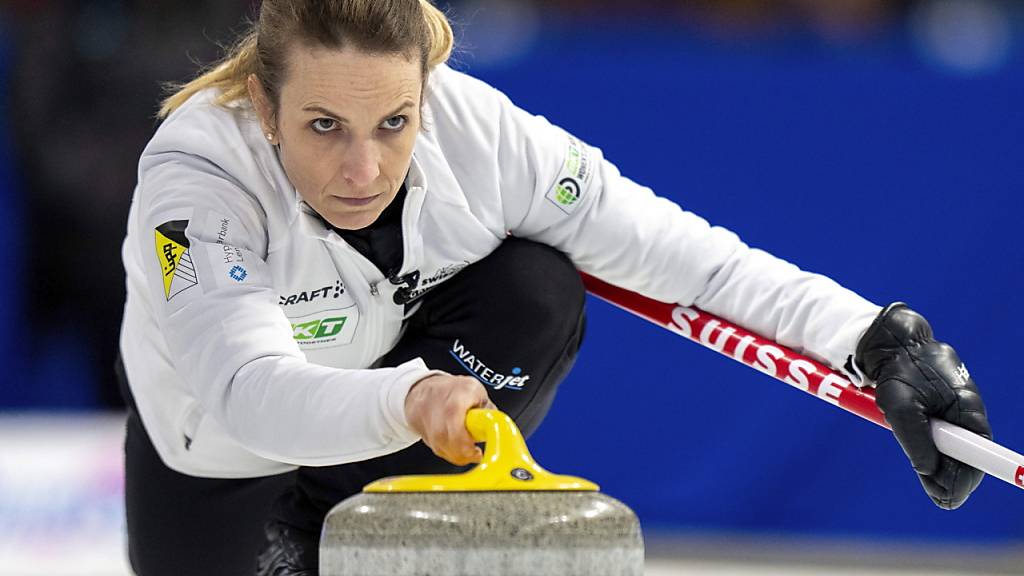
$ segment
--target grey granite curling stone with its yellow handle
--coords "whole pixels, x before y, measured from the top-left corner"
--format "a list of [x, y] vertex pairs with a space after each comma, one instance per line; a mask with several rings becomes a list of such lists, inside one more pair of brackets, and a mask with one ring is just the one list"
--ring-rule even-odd
[[642, 576], [633, 510], [542, 468], [498, 410], [466, 427], [486, 443], [473, 469], [383, 479], [331, 510], [322, 576]]

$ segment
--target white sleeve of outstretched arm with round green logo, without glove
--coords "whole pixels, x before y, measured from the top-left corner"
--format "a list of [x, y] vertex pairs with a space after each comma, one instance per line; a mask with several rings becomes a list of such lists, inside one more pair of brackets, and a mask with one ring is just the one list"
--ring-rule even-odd
[[[712, 314], [843, 369], [880, 307], [623, 176], [601, 151], [503, 94], [498, 166], [505, 224], [577, 266]], [[856, 374], [850, 374], [855, 381]]]

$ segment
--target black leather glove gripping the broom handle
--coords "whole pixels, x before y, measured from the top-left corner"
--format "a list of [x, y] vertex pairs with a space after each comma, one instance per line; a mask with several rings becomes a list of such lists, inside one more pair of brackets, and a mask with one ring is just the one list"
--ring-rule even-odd
[[955, 509], [983, 472], [941, 454], [932, 441], [934, 416], [987, 439], [992, 428], [967, 367], [932, 327], [902, 302], [879, 314], [857, 344], [857, 366], [878, 384], [876, 402], [906, 452], [921, 484], [941, 508]]

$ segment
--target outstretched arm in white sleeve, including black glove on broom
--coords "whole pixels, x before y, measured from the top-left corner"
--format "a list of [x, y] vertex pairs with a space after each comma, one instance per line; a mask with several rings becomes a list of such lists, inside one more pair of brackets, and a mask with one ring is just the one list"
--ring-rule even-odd
[[[882, 308], [833, 280], [743, 244], [733, 233], [623, 176], [601, 152], [499, 96], [498, 166], [507, 230], [654, 299], [695, 304], [823, 360], [878, 404], [925, 491], [956, 508], [979, 470], [941, 455], [939, 417], [991, 438], [977, 386], [951, 346], [902, 304]], [[866, 373], [866, 378], [863, 374]]]

